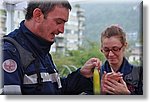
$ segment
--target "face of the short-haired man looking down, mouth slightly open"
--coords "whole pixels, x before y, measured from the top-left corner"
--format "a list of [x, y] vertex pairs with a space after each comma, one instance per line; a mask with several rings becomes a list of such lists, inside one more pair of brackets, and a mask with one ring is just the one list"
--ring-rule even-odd
[[69, 9], [55, 6], [45, 18], [43, 16], [38, 27], [38, 36], [49, 42], [54, 42], [55, 35], [64, 32], [64, 25], [68, 21], [68, 16]]

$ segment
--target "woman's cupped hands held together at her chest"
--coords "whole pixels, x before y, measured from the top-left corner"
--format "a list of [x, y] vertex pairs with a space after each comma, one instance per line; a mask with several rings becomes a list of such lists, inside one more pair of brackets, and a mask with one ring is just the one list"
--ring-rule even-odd
[[114, 73], [111, 74], [104, 73], [102, 77], [102, 94], [106, 94], [106, 93], [115, 94], [115, 95], [130, 94], [130, 91], [128, 90], [125, 81], [120, 76], [121, 74], [120, 73], [114, 74], [114, 76], [118, 76], [118, 78], [114, 78], [113, 74]]

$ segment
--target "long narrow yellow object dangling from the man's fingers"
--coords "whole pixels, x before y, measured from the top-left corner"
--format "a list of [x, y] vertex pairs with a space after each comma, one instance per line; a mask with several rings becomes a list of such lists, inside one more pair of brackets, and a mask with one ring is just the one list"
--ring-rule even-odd
[[95, 95], [100, 95], [100, 74], [97, 68], [94, 69], [93, 74], [93, 91]]

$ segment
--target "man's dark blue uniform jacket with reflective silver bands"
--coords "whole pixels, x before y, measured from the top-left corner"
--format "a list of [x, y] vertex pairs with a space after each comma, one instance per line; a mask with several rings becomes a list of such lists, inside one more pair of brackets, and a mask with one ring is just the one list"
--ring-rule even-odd
[[[2, 67], [3, 94], [80, 94], [92, 92], [92, 82], [80, 74], [79, 69], [67, 78], [60, 78], [49, 54], [49, 43], [30, 32], [21, 22], [20, 28], [7, 35], [31, 52], [34, 60], [24, 68], [17, 48], [4, 42]], [[26, 55], [24, 55], [26, 56]]]

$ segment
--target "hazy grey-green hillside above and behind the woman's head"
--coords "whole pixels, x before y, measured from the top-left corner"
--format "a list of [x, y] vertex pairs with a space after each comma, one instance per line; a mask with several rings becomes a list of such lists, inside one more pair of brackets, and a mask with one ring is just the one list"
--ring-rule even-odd
[[85, 39], [99, 42], [100, 32], [111, 24], [119, 24], [127, 33], [140, 34], [140, 4], [81, 3], [80, 6], [85, 9]]

